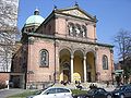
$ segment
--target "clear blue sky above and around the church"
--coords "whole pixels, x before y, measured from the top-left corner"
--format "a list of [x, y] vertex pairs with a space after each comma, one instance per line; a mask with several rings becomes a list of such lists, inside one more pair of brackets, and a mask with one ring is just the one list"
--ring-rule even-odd
[[[75, 2], [91, 15], [96, 15], [98, 42], [115, 45], [114, 37], [120, 29], [131, 32], [131, 0], [20, 0], [17, 26], [21, 29], [36, 8], [46, 19], [55, 5], [58, 9], [64, 9], [73, 7]], [[118, 51], [115, 47], [115, 61], [118, 61], [117, 54]]]

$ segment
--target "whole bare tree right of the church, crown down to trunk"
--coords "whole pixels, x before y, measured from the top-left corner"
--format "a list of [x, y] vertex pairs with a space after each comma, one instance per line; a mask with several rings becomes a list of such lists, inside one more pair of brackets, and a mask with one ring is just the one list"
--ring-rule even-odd
[[119, 51], [118, 57], [123, 69], [124, 76], [128, 79], [131, 75], [131, 65], [129, 65], [129, 60], [131, 60], [131, 32], [120, 29], [118, 35], [115, 36], [116, 47]]

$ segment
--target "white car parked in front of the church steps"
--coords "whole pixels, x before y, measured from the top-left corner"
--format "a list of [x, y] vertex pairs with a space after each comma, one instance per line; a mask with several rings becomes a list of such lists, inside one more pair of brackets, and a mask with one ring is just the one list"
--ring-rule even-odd
[[32, 98], [73, 98], [72, 91], [64, 87], [49, 87]]

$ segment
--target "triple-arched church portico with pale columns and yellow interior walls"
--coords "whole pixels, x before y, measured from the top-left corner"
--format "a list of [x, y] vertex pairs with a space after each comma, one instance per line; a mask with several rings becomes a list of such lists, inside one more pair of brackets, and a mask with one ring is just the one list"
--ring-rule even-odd
[[82, 49], [62, 49], [59, 52], [60, 78], [59, 81], [95, 82], [95, 54]]

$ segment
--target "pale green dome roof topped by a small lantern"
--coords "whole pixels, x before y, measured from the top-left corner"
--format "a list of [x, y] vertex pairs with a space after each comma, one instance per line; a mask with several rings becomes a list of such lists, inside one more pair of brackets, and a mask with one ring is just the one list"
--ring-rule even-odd
[[39, 11], [36, 9], [34, 12], [34, 15], [31, 15], [26, 22], [25, 25], [40, 25], [44, 22], [44, 17], [39, 15]]

